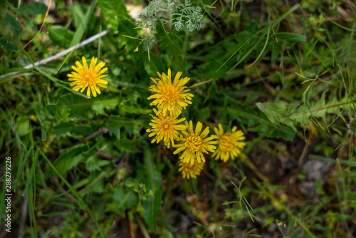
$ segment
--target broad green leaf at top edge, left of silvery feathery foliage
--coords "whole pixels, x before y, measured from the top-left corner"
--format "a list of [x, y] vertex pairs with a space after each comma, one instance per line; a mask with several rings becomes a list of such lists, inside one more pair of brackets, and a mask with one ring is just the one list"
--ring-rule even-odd
[[[108, 22], [108, 28], [112, 29], [112, 33], [117, 33], [117, 27], [119, 26], [117, 19], [120, 19], [121, 23], [124, 24], [125, 19], [131, 18], [122, 0], [99, 0], [98, 4], [103, 12], [104, 19]], [[128, 26], [120, 27], [121, 29], [127, 28], [127, 30], [130, 31]]]

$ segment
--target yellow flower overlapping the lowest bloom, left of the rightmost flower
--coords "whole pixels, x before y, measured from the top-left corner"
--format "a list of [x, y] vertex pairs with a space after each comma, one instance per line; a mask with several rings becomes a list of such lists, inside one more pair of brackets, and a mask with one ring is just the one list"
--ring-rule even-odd
[[189, 125], [187, 121], [185, 122], [185, 124], [187, 125], [188, 131], [187, 130], [182, 131], [184, 135], [184, 137], [180, 139], [182, 141], [182, 144], [174, 146], [177, 148], [177, 150], [174, 151], [173, 154], [175, 155], [184, 150], [181, 156], [182, 162], [190, 162], [191, 165], [194, 164], [194, 161], [196, 159], [198, 160], [199, 163], [201, 161], [205, 162], [203, 152], [207, 154], [209, 153], [208, 151], [214, 152], [216, 149], [215, 145], [211, 145], [214, 144], [214, 141], [210, 141], [213, 140], [214, 138], [212, 137], [205, 138], [206, 135], [209, 134], [209, 127], [206, 127], [205, 130], [202, 133], [200, 133], [201, 128], [203, 126], [200, 122], [197, 123], [195, 132], [193, 130], [192, 120], [189, 122]]

